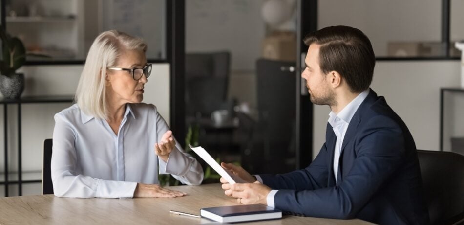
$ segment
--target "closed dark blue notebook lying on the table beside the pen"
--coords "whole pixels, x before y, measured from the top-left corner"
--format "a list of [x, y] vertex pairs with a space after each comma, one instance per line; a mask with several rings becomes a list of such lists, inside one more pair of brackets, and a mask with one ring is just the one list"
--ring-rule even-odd
[[202, 208], [200, 215], [221, 223], [236, 223], [282, 218], [282, 211], [263, 204]]

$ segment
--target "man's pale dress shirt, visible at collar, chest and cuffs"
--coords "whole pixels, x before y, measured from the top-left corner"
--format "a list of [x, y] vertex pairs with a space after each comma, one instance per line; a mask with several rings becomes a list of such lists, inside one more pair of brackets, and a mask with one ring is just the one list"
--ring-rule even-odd
[[[340, 158], [340, 151], [341, 145], [343, 144], [343, 138], [345, 137], [346, 130], [348, 129], [348, 125], [350, 124], [351, 118], [358, 110], [361, 103], [366, 99], [367, 95], [369, 94], [369, 89], [364, 90], [355, 99], [353, 99], [348, 105], [346, 105], [338, 114], [335, 112], [329, 113], [329, 124], [332, 126], [332, 129], [337, 136], [337, 141], [335, 143], [335, 154], [334, 154], [334, 175], [335, 180], [337, 180], [337, 173], [338, 173], [338, 160]], [[256, 180], [259, 182], [263, 182], [262, 178], [258, 175], [256, 176]], [[269, 207], [275, 207], [274, 203], [274, 196], [278, 190], [271, 190], [269, 194], [266, 196], [266, 201]]]

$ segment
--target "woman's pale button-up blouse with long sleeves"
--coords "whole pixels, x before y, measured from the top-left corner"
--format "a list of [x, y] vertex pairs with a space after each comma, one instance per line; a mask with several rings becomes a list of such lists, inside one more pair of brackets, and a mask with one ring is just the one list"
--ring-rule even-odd
[[179, 143], [167, 162], [155, 154], [155, 143], [168, 130], [152, 104], [126, 104], [118, 135], [105, 119], [84, 114], [77, 104], [57, 113], [51, 161], [55, 195], [131, 198], [137, 183], [158, 183], [158, 166], [160, 174], [199, 185], [203, 169]]

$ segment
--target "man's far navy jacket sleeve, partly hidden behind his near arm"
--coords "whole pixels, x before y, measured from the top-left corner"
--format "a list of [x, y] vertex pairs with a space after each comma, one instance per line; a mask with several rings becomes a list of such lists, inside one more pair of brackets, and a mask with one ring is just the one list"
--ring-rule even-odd
[[327, 187], [328, 168], [326, 144], [322, 145], [319, 154], [314, 161], [305, 169], [293, 171], [281, 175], [259, 175], [263, 183], [274, 190], [316, 190]]

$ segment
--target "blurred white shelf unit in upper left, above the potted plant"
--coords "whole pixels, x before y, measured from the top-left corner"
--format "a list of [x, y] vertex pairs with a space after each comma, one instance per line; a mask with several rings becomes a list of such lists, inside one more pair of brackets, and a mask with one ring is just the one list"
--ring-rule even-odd
[[19, 37], [29, 52], [49, 55], [52, 60], [84, 59], [84, 1], [33, 0], [29, 3], [39, 6], [39, 15], [7, 16], [7, 32]]

